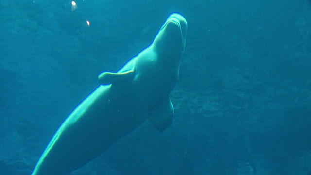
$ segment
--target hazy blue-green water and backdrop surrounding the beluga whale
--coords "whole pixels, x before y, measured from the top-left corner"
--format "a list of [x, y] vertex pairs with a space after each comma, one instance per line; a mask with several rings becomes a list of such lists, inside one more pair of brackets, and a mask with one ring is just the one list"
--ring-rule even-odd
[[[163, 133], [149, 122], [72, 175], [311, 175], [310, 0], [0, 0], [0, 174], [29, 175], [59, 125], [188, 22]], [[89, 21], [89, 25], [86, 21]]]

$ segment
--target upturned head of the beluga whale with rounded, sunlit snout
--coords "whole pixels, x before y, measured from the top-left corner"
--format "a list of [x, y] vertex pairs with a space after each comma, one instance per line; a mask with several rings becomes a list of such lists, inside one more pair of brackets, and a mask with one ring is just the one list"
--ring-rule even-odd
[[155, 36], [152, 46], [157, 54], [162, 54], [158, 55], [160, 58], [179, 63], [184, 52], [186, 35], [186, 19], [178, 13], [172, 13]]

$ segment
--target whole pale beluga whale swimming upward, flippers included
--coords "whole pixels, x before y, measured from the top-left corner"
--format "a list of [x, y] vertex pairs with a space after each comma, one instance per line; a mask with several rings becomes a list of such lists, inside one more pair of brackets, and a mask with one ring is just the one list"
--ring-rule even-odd
[[167, 129], [187, 35], [187, 21], [172, 13], [153, 42], [117, 72], [102, 72], [95, 88], [66, 118], [32, 175], [65, 175], [95, 157], [146, 120]]

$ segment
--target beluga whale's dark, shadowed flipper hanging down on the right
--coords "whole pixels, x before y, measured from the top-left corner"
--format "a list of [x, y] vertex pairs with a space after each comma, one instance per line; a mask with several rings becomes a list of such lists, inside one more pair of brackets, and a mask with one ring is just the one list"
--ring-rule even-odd
[[148, 112], [150, 123], [159, 131], [167, 129], [173, 120], [174, 107], [171, 98], [165, 98], [157, 102]]

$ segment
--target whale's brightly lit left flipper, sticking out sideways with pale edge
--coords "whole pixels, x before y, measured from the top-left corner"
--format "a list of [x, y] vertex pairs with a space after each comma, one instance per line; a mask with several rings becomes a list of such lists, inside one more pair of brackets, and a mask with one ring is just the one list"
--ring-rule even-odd
[[128, 70], [122, 73], [103, 72], [98, 75], [98, 81], [101, 85], [108, 85], [131, 78], [134, 74], [134, 70]]

